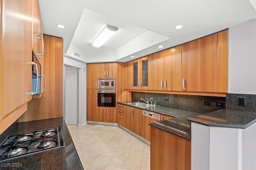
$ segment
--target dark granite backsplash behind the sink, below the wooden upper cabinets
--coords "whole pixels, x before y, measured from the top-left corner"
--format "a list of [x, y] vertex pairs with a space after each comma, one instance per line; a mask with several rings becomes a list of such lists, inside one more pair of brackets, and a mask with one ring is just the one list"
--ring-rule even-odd
[[[225, 97], [132, 92], [132, 101], [137, 102], [139, 100], [140, 102], [144, 102], [140, 100], [140, 98], [154, 98], [156, 105], [194, 111], [197, 113], [209, 113], [224, 109], [226, 102]], [[168, 101], [165, 101], [164, 98], [168, 98]], [[204, 105], [204, 101], [211, 102], [211, 106]], [[216, 102], [224, 102], [224, 107], [216, 107]]]

